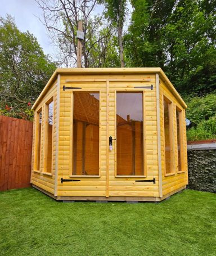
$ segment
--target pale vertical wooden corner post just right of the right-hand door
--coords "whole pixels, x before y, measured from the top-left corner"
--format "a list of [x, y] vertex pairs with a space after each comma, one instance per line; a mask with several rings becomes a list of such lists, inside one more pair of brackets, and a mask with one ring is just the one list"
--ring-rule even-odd
[[160, 82], [159, 74], [155, 74], [156, 81], [156, 111], [157, 111], [157, 136], [158, 136], [158, 181], [159, 197], [163, 197], [162, 192], [162, 172], [161, 172], [161, 136], [160, 136]]

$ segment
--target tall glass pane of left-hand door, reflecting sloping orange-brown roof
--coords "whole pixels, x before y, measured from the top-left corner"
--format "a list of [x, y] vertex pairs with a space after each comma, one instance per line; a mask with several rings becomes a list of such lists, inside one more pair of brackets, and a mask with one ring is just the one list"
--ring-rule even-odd
[[100, 93], [73, 96], [73, 175], [99, 175]]

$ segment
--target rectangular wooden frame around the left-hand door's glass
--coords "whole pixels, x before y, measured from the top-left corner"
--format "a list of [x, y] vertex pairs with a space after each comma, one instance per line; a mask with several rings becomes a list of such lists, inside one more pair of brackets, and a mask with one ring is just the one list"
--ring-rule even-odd
[[[73, 174], [73, 128], [74, 128], [74, 92], [99, 93], [99, 172], [98, 175], [74, 175]], [[70, 159], [69, 159], [69, 177], [71, 178], [100, 178], [101, 177], [101, 89], [74, 89], [70, 92]]]

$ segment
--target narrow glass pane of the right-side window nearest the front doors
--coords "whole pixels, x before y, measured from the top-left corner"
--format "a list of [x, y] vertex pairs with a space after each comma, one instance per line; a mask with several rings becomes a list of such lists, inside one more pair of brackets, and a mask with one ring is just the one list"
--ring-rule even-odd
[[164, 140], [165, 140], [165, 172], [171, 172], [170, 158], [170, 124], [169, 124], [170, 103], [164, 99]]

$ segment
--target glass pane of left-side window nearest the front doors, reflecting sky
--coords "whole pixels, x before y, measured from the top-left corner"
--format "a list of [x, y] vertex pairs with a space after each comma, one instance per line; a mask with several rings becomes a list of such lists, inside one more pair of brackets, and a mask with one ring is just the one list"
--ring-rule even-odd
[[53, 101], [48, 105], [47, 172], [52, 172]]

